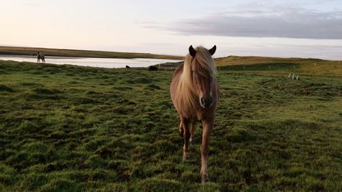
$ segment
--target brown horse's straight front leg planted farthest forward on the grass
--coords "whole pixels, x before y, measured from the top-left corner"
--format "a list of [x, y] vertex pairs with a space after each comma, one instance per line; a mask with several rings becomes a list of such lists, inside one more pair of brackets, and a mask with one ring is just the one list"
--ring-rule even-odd
[[200, 176], [202, 179], [202, 183], [208, 182], [208, 152], [209, 152], [209, 137], [213, 132], [214, 120], [204, 120], [203, 124], [203, 133], [202, 133], [202, 146], [200, 146], [200, 154], [202, 166], [200, 168]]

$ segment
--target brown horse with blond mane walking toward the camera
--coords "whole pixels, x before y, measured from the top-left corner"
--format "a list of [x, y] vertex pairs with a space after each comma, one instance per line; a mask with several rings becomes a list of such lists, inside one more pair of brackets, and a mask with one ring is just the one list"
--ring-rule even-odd
[[202, 146], [200, 146], [202, 182], [209, 181], [207, 166], [209, 136], [213, 131], [220, 94], [218, 81], [215, 79], [216, 68], [211, 57], [215, 51], [216, 46], [209, 50], [202, 46], [196, 49], [190, 46], [184, 64], [174, 71], [170, 86], [172, 102], [181, 119], [179, 132], [184, 138], [183, 160], [189, 157], [188, 146], [189, 142], [194, 141], [196, 122], [202, 121]]

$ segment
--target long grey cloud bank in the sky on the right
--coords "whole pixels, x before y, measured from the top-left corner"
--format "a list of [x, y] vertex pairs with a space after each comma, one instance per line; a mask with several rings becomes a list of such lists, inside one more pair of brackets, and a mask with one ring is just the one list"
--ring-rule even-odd
[[295, 5], [273, 5], [145, 26], [181, 35], [342, 39], [342, 11], [319, 12]]

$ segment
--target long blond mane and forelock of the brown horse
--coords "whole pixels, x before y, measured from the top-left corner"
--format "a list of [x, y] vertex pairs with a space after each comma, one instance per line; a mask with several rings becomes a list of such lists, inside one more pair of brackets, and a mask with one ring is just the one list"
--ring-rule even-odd
[[196, 55], [192, 57], [187, 54], [184, 60], [183, 72], [179, 77], [179, 85], [176, 87], [178, 96], [176, 98], [177, 109], [184, 109], [183, 114], [187, 118], [194, 115], [199, 105], [199, 98], [195, 86], [192, 83], [192, 72], [200, 77], [213, 77], [217, 73], [215, 63], [211, 54], [203, 46], [196, 47]]

